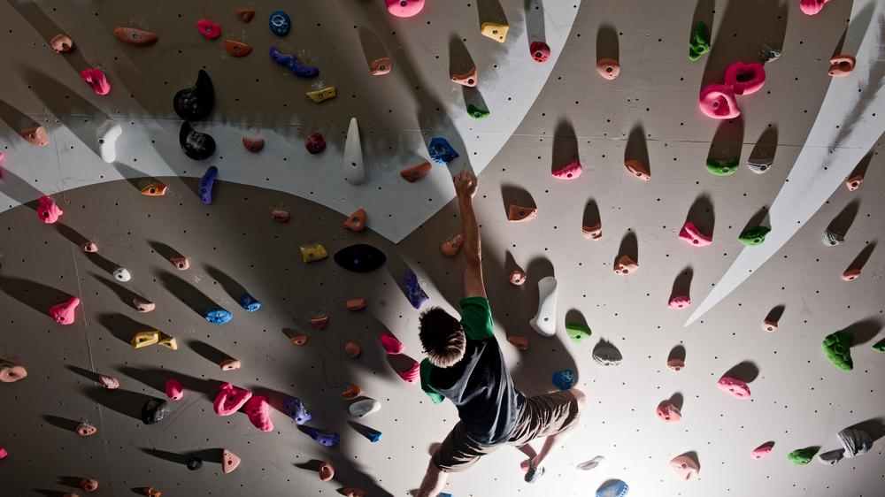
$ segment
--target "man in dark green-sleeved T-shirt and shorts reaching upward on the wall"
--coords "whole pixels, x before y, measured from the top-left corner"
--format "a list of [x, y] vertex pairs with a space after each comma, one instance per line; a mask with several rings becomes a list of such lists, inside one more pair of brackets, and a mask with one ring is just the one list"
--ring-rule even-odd
[[[543, 463], [578, 424], [584, 393], [577, 388], [525, 397], [513, 385], [492, 332], [492, 315], [482, 282], [480, 229], [473, 213], [476, 177], [459, 172], [453, 179], [464, 233], [465, 298], [461, 320], [434, 307], [421, 314], [419, 338], [427, 353], [420, 366], [421, 388], [434, 401], [448, 398], [460, 421], [427, 466], [418, 497], [435, 497], [448, 473], [463, 471], [504, 444], [516, 446], [528, 483], [543, 475]], [[540, 452], [531, 440], [547, 437]]]

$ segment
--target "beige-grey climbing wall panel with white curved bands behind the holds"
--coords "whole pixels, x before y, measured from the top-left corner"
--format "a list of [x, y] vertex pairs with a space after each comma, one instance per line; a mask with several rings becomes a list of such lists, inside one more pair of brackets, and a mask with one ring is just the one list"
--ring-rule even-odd
[[[275, 11], [288, 13], [288, 34], [273, 33]], [[881, 495], [882, 12], [869, 0], [833, 0], [814, 15], [799, 0], [428, 1], [407, 18], [381, 0], [0, 4], [0, 363], [6, 379], [23, 372], [12, 365], [27, 370], [0, 383], [0, 494], [83, 495], [83, 478], [96, 480], [93, 495], [409, 494], [458, 417], [404, 381], [423, 357], [404, 273], [418, 275], [425, 307], [457, 310], [464, 263], [440, 244], [460, 230], [450, 175], [471, 168], [496, 337], [516, 385], [551, 392], [554, 373], [572, 370], [588, 403], [538, 483], [523, 482], [521, 453], [503, 447], [452, 476], [447, 493], [592, 495], [621, 480], [630, 495]], [[158, 40], [123, 42], [118, 27]], [[73, 51], [52, 50], [62, 33]], [[543, 62], [533, 58], [540, 41]], [[252, 50], [235, 57], [233, 42]], [[698, 53], [705, 42], [712, 50]], [[764, 44], [781, 55], [760, 54]], [[268, 57], [272, 46], [298, 57], [294, 71], [291, 58]], [[829, 76], [843, 54], [857, 68]], [[730, 86], [727, 69], [763, 56], [761, 89], [730, 96], [758, 69]], [[389, 73], [373, 75], [384, 57]], [[312, 66], [319, 76], [296, 74]], [[81, 80], [89, 67], [109, 94]], [[473, 67], [475, 87], [452, 80]], [[205, 141], [182, 147], [173, 100], [200, 88], [200, 70], [214, 102], [187, 122], [216, 148], [194, 160]], [[714, 88], [717, 109], [734, 103], [739, 116], [699, 109], [711, 84], [725, 87]], [[327, 102], [305, 95], [333, 86]], [[361, 180], [345, 145], [354, 118]], [[45, 146], [20, 135], [35, 126]], [[305, 147], [312, 134], [326, 149]], [[250, 151], [244, 137], [265, 146]], [[435, 162], [435, 138], [459, 157]], [[736, 172], [723, 171], [731, 157]], [[425, 161], [426, 176], [401, 177]], [[626, 161], [638, 162], [631, 171]], [[574, 163], [580, 175], [554, 177]], [[211, 166], [217, 180], [201, 185]], [[151, 186], [165, 195], [145, 195]], [[41, 222], [41, 195], [64, 211], [55, 223]], [[512, 205], [536, 217], [513, 222]], [[359, 208], [366, 230], [345, 229]], [[696, 242], [679, 236], [689, 222]], [[757, 226], [771, 228], [766, 241], [739, 240]], [[752, 252], [772, 242], [782, 247], [770, 258]], [[380, 268], [335, 261], [358, 243], [381, 250]], [[327, 259], [305, 263], [302, 248], [317, 244]], [[630, 271], [616, 274], [623, 256]], [[686, 326], [751, 257], [749, 277]], [[547, 277], [558, 282], [551, 337], [530, 325]], [[60, 317], [71, 323], [57, 323], [50, 308], [72, 297], [73, 317]], [[353, 299], [365, 308], [350, 310]], [[229, 322], [208, 322], [212, 310]], [[584, 326], [589, 337], [569, 333]], [[822, 347], [836, 332], [849, 371]], [[390, 335], [401, 354], [385, 353]], [[135, 337], [165, 347], [134, 348]], [[508, 338], [527, 339], [527, 350]], [[217, 415], [227, 382], [265, 397], [273, 426], [251, 422], [249, 407]], [[354, 386], [381, 409], [352, 416], [342, 393]], [[291, 397], [310, 411], [306, 423], [290, 417]], [[167, 404], [157, 423], [145, 423], [157, 421], [142, 412], [150, 401]], [[843, 443], [840, 432], [860, 439]], [[327, 433], [340, 441], [318, 443]], [[764, 457], [751, 456], [758, 447]], [[832, 462], [850, 447], [868, 451], [793, 462]], [[223, 450], [241, 460], [234, 470]], [[688, 480], [672, 467], [680, 455], [697, 466]], [[324, 462], [335, 468], [328, 481]]]

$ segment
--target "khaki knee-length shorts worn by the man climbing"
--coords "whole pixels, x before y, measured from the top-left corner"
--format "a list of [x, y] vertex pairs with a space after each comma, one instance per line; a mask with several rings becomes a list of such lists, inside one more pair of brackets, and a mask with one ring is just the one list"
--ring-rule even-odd
[[436, 449], [433, 462], [447, 473], [466, 470], [483, 455], [503, 445], [523, 446], [531, 440], [562, 432], [578, 420], [578, 400], [568, 390], [536, 395], [526, 399], [526, 408], [509, 440], [489, 445], [470, 438], [462, 422], [451, 429], [443, 444]]

